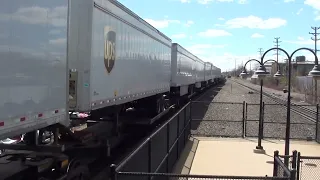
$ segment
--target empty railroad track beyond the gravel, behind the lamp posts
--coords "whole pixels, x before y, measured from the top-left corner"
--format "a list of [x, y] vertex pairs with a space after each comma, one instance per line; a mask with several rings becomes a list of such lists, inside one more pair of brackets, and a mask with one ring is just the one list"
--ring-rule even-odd
[[[240, 83], [236, 80], [232, 80], [232, 81], [243, 86], [243, 87], [246, 87], [252, 91], [260, 93], [260, 90], [257, 90], [253, 87], [250, 87], [248, 85]], [[287, 100], [281, 99], [278, 96], [275, 96], [275, 95], [267, 93], [267, 92], [262, 92], [262, 94], [266, 97], [269, 97], [272, 101], [276, 102], [277, 104], [280, 104], [280, 105], [287, 107]], [[314, 122], [314, 123], [317, 122], [317, 111], [312, 110], [308, 107], [298, 105], [296, 103], [291, 103], [291, 111], [295, 112], [296, 114], [299, 114], [300, 116], [304, 117], [305, 119], [307, 119], [311, 122]]]

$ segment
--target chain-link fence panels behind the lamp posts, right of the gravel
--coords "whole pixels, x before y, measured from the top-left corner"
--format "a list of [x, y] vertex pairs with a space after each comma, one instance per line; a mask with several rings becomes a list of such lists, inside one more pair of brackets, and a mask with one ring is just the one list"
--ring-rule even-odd
[[[290, 138], [320, 142], [318, 124], [319, 106], [292, 105], [290, 115]], [[246, 103], [245, 136], [258, 137], [260, 104]], [[282, 104], [261, 105], [262, 138], [285, 139], [287, 109]]]

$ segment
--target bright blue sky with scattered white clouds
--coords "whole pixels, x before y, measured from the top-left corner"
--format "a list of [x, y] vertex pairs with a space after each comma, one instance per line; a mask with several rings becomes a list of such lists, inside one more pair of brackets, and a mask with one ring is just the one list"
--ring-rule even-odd
[[[311, 27], [320, 26], [320, 0], [119, 0], [151, 25], [223, 71], [275, 46], [289, 55], [314, 49]], [[320, 29], [319, 29], [320, 32]], [[319, 45], [320, 46], [320, 45]], [[276, 59], [271, 51], [267, 59]], [[279, 55], [279, 61], [285, 58]], [[314, 57], [307, 51], [308, 61]]]

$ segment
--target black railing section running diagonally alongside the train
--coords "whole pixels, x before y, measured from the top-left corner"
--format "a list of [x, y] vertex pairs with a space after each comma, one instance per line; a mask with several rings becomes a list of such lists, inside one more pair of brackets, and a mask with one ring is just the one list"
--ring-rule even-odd
[[[190, 107], [186, 104], [172, 118], [153, 132], [141, 145], [126, 157], [115, 169], [131, 173], [169, 173], [179, 158], [190, 136]], [[121, 174], [121, 173], [120, 173]], [[121, 179], [126, 179], [122, 176]], [[132, 176], [129, 179], [145, 179]]]

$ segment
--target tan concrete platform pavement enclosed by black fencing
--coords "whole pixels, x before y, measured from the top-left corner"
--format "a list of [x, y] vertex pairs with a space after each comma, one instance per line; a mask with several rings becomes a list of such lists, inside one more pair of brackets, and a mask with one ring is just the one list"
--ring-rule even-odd
[[[265, 154], [255, 153], [256, 145], [257, 139], [249, 138], [191, 137], [173, 173], [272, 176], [274, 151], [279, 150], [279, 154], [284, 154], [284, 141], [263, 140]], [[320, 144], [316, 142], [290, 141], [290, 153], [293, 150], [301, 152], [303, 156], [320, 156]], [[320, 160], [313, 162], [313, 167], [303, 164], [306, 167], [303, 179], [314, 179], [315, 173], [320, 177]], [[307, 173], [307, 170], [310, 172]]]

